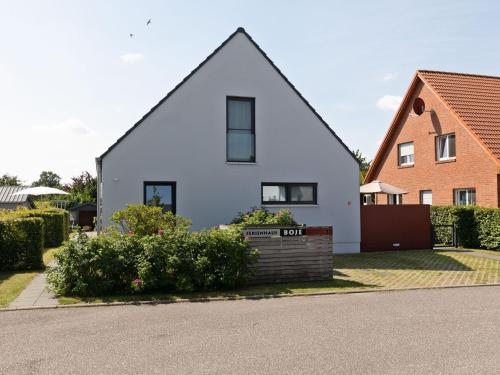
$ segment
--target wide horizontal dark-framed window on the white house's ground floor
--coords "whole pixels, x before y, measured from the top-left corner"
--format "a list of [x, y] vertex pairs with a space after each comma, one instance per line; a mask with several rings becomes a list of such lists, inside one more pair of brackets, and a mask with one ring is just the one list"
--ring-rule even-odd
[[317, 204], [316, 183], [263, 182], [262, 204]]

